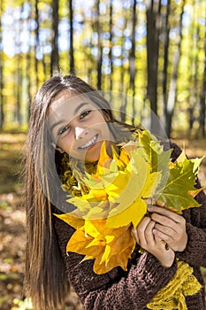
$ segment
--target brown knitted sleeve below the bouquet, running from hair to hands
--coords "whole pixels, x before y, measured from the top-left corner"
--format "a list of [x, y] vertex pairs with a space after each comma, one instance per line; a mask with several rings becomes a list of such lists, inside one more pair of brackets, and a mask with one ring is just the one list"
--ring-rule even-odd
[[79, 295], [85, 309], [146, 309], [149, 300], [175, 275], [177, 265], [162, 267], [156, 258], [144, 252], [128, 271], [116, 267], [104, 275], [93, 272], [93, 260], [82, 261], [82, 256], [70, 252], [66, 244], [74, 229], [64, 221], [53, 219], [61, 252], [65, 260], [68, 279]]

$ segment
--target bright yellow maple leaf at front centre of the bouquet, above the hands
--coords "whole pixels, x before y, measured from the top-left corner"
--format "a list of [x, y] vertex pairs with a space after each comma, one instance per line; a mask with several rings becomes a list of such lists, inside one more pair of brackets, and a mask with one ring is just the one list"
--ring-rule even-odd
[[[152, 197], [160, 182], [161, 173], [151, 173], [151, 167], [141, 156], [141, 150], [132, 153], [132, 159], [127, 165], [128, 180], [124, 189], [119, 190], [116, 206], [111, 209], [107, 218], [107, 226], [118, 228], [130, 224], [134, 228], [147, 213], [147, 204], [143, 199]], [[137, 168], [138, 167], [138, 168]], [[120, 189], [122, 186], [118, 186]]]

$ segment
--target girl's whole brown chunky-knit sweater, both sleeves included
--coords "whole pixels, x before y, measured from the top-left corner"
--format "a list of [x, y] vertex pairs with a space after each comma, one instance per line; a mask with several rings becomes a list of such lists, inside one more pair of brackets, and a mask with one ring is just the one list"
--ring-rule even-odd
[[[171, 145], [172, 159], [179, 156], [179, 147]], [[202, 290], [186, 298], [188, 310], [203, 310], [205, 307], [205, 291], [200, 266], [206, 267], [206, 196], [198, 194], [196, 200], [202, 204], [199, 208], [184, 211], [187, 220], [187, 248], [184, 252], [176, 252], [179, 260], [186, 261], [194, 268], [194, 275], [202, 284]], [[62, 200], [60, 209], [65, 205]], [[57, 210], [56, 210], [57, 212]], [[58, 243], [65, 260], [68, 280], [72, 283], [83, 306], [88, 310], [144, 310], [147, 304], [172, 279], [176, 273], [177, 264], [172, 267], [162, 267], [149, 252], [139, 254], [136, 246], [131, 260], [128, 261], [127, 272], [121, 267], [115, 267], [104, 275], [96, 275], [93, 271], [94, 260], [82, 260], [80, 254], [66, 254], [66, 244], [74, 229], [64, 221], [54, 217], [54, 227]], [[161, 309], [160, 309], [161, 310]]]

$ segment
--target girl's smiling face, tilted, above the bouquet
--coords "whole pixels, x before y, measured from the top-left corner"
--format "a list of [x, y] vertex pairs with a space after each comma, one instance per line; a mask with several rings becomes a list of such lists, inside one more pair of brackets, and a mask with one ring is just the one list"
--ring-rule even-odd
[[50, 131], [58, 151], [72, 158], [96, 161], [103, 141], [112, 136], [103, 114], [87, 97], [63, 90], [50, 105]]

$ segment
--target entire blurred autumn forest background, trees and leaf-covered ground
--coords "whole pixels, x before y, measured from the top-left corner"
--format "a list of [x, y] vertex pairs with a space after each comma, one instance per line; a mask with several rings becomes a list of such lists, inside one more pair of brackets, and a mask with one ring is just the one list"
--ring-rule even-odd
[[[32, 98], [50, 75], [75, 73], [119, 95], [190, 157], [206, 153], [205, 0], [0, 0], [0, 308], [32, 309], [22, 283], [20, 156]], [[135, 98], [123, 100], [122, 98]], [[152, 111], [151, 113], [149, 111]], [[200, 180], [206, 186], [206, 160]], [[205, 270], [202, 269], [205, 274]], [[65, 309], [80, 309], [73, 293]]]

